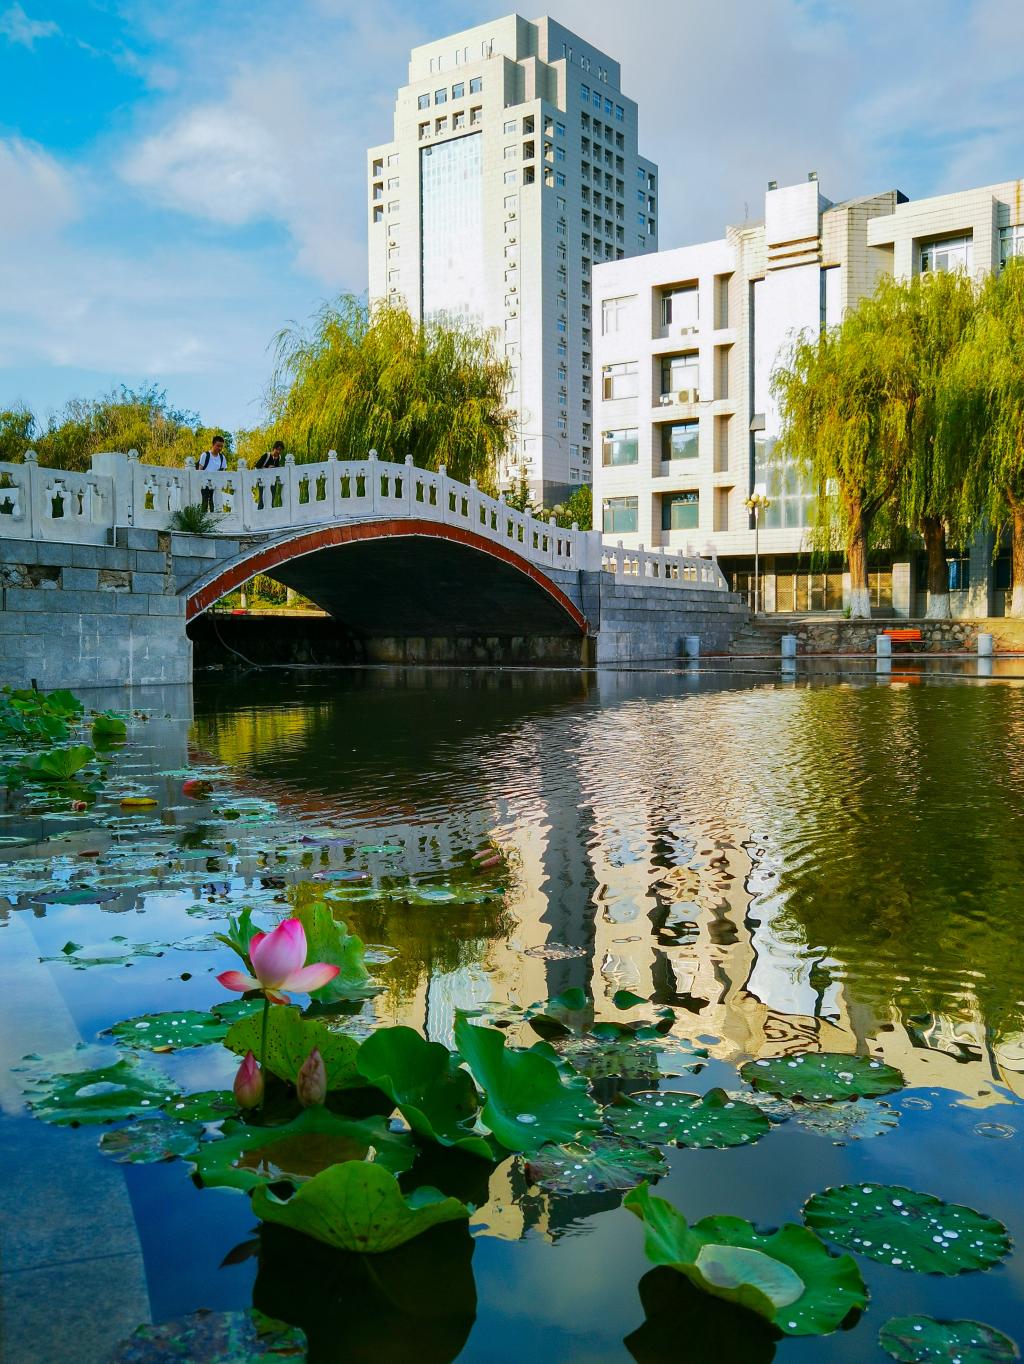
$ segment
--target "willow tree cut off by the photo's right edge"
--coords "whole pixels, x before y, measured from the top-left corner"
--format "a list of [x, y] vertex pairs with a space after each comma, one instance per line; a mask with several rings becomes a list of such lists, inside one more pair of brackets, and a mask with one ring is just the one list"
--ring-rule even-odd
[[941, 420], [964, 465], [963, 518], [1010, 531], [1008, 615], [1024, 617], [1024, 261], [982, 286], [978, 314], [950, 367]]

